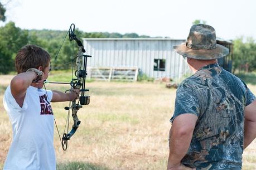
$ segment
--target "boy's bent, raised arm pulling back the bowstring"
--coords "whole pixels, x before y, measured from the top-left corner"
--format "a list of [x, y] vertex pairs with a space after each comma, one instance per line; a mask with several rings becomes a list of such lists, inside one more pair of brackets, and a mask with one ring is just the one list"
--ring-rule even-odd
[[31, 85], [32, 81], [36, 79], [37, 74], [33, 71], [28, 71], [16, 75], [11, 80], [11, 93], [20, 107], [23, 105], [27, 88]]

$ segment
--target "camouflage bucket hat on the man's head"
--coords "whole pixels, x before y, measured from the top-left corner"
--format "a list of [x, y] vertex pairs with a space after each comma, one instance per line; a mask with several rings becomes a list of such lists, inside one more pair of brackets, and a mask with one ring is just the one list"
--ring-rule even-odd
[[228, 48], [216, 43], [214, 28], [204, 24], [193, 25], [186, 43], [173, 48], [182, 56], [199, 60], [219, 59], [229, 54]]

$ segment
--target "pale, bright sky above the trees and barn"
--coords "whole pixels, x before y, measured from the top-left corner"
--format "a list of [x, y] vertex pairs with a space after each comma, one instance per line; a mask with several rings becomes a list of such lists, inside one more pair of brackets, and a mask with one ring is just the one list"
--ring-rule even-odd
[[204, 20], [216, 36], [256, 40], [254, 0], [0, 0], [6, 22], [22, 29], [118, 32], [186, 39], [192, 22]]

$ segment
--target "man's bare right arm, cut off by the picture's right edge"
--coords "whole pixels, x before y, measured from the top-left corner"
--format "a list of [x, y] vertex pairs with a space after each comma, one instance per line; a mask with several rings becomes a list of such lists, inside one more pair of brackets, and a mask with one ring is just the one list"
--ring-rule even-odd
[[256, 100], [244, 110], [244, 149], [256, 138]]

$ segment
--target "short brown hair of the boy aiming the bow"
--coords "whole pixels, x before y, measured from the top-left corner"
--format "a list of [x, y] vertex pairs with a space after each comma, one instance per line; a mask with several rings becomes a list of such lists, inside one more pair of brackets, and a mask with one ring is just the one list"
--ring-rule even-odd
[[44, 71], [50, 64], [50, 54], [41, 47], [36, 45], [23, 46], [15, 58], [17, 73], [26, 72], [30, 68], [38, 69], [41, 66]]

